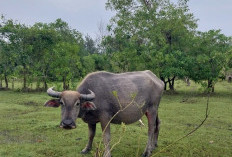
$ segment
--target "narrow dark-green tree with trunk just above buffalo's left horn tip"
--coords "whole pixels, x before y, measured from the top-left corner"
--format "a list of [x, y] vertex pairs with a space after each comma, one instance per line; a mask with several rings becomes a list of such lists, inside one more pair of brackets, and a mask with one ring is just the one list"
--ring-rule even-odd
[[58, 35], [54, 28], [48, 24], [36, 23], [31, 27], [31, 45], [33, 45], [33, 76], [37, 78], [37, 88], [43, 81], [44, 89], [47, 90], [49, 75], [52, 73], [52, 50], [58, 42]]

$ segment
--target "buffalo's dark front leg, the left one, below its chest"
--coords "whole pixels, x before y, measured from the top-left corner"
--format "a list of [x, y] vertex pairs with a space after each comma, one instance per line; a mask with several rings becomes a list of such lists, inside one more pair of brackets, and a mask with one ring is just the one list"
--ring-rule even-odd
[[92, 149], [93, 138], [94, 138], [95, 133], [96, 133], [96, 124], [89, 124], [88, 123], [88, 127], [89, 127], [89, 141], [88, 141], [86, 147], [81, 151], [82, 154], [86, 154]]

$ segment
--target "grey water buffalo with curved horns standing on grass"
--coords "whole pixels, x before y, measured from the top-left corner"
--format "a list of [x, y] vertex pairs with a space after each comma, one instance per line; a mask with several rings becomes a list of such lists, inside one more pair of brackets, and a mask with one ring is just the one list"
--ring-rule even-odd
[[57, 92], [49, 88], [45, 106], [61, 105], [61, 128], [76, 128], [77, 117], [88, 123], [89, 140], [81, 153], [92, 148], [96, 123], [100, 122], [105, 145], [104, 157], [110, 157], [110, 123], [130, 124], [144, 114], [148, 119], [148, 141], [143, 156], [150, 156], [157, 146], [159, 125], [158, 106], [164, 84], [151, 71], [127, 73], [94, 72], [88, 74], [77, 91]]

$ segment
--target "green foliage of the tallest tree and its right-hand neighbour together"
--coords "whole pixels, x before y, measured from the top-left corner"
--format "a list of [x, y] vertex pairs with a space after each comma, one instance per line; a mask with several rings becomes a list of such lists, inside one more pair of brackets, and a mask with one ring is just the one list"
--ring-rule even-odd
[[[230, 38], [220, 31], [197, 33], [197, 20], [188, 0], [108, 0], [116, 11], [103, 39], [112, 57], [112, 71], [149, 69], [174, 89], [175, 78], [208, 81], [212, 87], [223, 69], [230, 66]], [[166, 89], [166, 88], [165, 88]]]

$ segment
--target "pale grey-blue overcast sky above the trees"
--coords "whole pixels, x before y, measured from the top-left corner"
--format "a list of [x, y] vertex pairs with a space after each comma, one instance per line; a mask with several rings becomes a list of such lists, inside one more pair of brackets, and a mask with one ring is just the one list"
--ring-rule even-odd
[[[73, 29], [95, 37], [98, 25], [114, 15], [105, 9], [107, 0], [0, 0], [0, 14], [20, 23], [66, 21]], [[172, 0], [177, 1], [177, 0]], [[221, 29], [232, 36], [232, 0], [190, 0], [190, 11], [199, 19], [198, 29]]]

